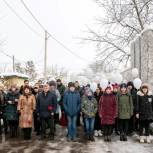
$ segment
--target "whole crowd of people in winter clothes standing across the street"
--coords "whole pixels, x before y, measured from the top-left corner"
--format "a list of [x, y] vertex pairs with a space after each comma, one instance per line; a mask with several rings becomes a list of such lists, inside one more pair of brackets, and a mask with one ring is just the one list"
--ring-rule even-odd
[[78, 81], [67, 86], [60, 79], [38, 81], [31, 87], [25, 80], [20, 88], [13, 84], [8, 91], [0, 86], [0, 119], [0, 134], [17, 137], [20, 128], [24, 140], [31, 139], [32, 129], [40, 140], [54, 140], [60, 124], [67, 127], [67, 141], [77, 141], [82, 121], [87, 141], [103, 136], [110, 142], [114, 132], [120, 141], [137, 133], [140, 143], [151, 143], [153, 95], [147, 84], [136, 90], [133, 82], [108, 84], [105, 89], [97, 84], [92, 91], [90, 84], [80, 87]]

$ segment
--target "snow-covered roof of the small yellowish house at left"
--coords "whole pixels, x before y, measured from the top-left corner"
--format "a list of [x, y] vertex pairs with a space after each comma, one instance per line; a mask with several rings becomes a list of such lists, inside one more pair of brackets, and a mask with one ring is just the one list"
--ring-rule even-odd
[[13, 77], [13, 76], [16, 76], [16, 77], [19, 77], [19, 78], [25, 78], [25, 79], [29, 78], [28, 75], [18, 73], [18, 72], [0, 73], [0, 77]]

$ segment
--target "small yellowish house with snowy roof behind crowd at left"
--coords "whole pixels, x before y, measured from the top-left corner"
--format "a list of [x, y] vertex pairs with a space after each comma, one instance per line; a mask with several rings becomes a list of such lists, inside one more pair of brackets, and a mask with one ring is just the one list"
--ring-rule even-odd
[[0, 81], [7, 89], [10, 88], [12, 84], [16, 84], [17, 86], [23, 85], [24, 80], [28, 78], [29, 76], [17, 72], [0, 73]]

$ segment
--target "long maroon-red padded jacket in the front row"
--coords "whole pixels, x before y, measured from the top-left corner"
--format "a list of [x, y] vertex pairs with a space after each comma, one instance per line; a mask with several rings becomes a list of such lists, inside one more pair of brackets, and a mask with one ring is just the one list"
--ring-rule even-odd
[[115, 123], [117, 117], [117, 98], [113, 94], [103, 94], [99, 101], [99, 116], [102, 125]]

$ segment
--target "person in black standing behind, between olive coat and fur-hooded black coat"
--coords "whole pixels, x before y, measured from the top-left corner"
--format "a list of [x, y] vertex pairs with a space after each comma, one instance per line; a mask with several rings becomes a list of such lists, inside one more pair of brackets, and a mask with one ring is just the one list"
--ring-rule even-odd
[[134, 88], [133, 82], [129, 81], [127, 83], [127, 88], [129, 94], [132, 96], [133, 100], [133, 116], [129, 121], [129, 134], [138, 131], [138, 119], [136, 118], [136, 107], [137, 107], [137, 90]]

